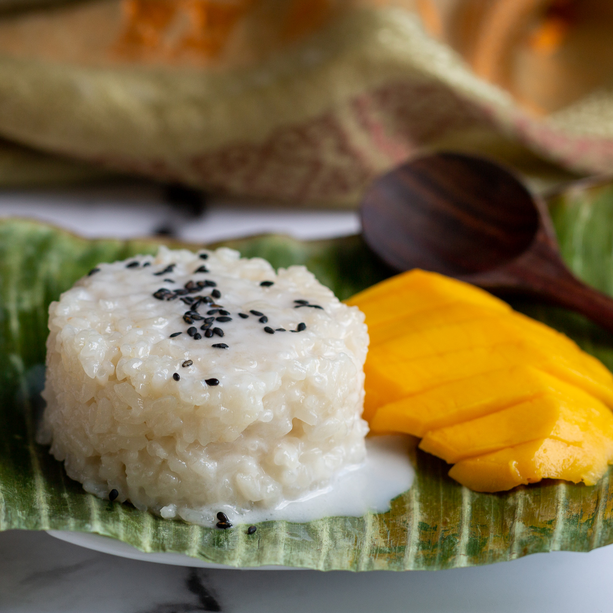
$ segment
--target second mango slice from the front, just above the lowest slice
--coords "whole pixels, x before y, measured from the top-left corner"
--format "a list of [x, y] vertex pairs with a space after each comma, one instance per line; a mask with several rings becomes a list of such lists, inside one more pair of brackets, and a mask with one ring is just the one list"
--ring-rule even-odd
[[[576, 400], [577, 396], [543, 392], [496, 413], [430, 430], [419, 447], [455, 463], [536, 439], [556, 438], [581, 446], [586, 436], [590, 441], [612, 436], [611, 411], [587, 394], [582, 394], [587, 402]], [[613, 449], [613, 438], [609, 446]]]

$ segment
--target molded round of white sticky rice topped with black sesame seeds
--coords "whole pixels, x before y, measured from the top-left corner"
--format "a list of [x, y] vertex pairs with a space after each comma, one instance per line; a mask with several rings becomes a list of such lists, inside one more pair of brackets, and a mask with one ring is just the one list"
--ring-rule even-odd
[[[170, 293], [189, 281], [200, 287]], [[199, 296], [214, 302], [200, 316], [229, 311], [211, 324], [223, 338], [188, 334], [205, 332], [184, 318]], [[51, 303], [49, 329], [39, 440], [99, 497], [207, 525], [224, 505], [275, 508], [364, 460], [364, 314], [305, 267], [162, 247], [100, 264]]]

